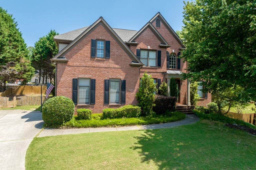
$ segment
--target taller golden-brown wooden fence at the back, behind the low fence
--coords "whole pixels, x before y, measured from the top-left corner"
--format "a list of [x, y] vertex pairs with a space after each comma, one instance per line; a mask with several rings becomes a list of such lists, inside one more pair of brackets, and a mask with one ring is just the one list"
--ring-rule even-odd
[[[11, 94], [15, 95], [39, 95], [41, 94], [41, 86], [6, 86], [11, 89]], [[42, 86], [42, 94], [46, 94], [46, 86]]]

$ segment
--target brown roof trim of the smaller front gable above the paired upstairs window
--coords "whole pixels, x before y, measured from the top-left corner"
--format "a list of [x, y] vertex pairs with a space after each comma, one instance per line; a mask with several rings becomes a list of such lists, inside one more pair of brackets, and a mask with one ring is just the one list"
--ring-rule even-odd
[[140, 31], [138, 31], [128, 42], [134, 42], [140, 34], [145, 31], [147, 28], [150, 28], [151, 31], [156, 35], [156, 37], [161, 41], [162, 44], [165, 44], [169, 46], [169, 44], [165, 41], [165, 39], [162, 37], [162, 35], [156, 30], [156, 28], [151, 24], [151, 22], [146, 23]]

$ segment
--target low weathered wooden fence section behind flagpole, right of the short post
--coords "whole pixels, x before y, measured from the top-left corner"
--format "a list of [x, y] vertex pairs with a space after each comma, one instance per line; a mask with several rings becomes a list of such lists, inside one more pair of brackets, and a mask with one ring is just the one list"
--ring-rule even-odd
[[[49, 96], [47, 99], [51, 98]], [[42, 96], [42, 104], [47, 100], [45, 96]], [[32, 106], [41, 105], [41, 96], [20, 96], [16, 98], [17, 106]]]

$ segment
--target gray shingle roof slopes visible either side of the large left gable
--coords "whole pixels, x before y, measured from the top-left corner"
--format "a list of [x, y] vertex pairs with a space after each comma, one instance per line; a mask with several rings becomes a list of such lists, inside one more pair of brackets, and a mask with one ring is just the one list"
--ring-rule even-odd
[[[82, 32], [84, 32], [88, 27], [90, 27], [90, 26], [79, 28], [77, 30], [69, 31], [69, 32], [66, 32], [63, 34], [55, 35], [54, 38], [61, 39], [61, 40], [73, 41]], [[138, 32], [138, 31], [134, 31], [134, 30], [124, 30], [124, 29], [118, 29], [118, 28], [113, 28], [113, 30], [124, 42], [129, 41]]]

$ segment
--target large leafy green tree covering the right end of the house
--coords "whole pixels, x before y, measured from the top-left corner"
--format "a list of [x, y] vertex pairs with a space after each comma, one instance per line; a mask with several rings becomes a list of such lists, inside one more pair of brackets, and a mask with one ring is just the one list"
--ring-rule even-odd
[[211, 93], [239, 85], [244, 101], [256, 100], [255, 0], [196, 0], [183, 14], [184, 78], [203, 79]]

